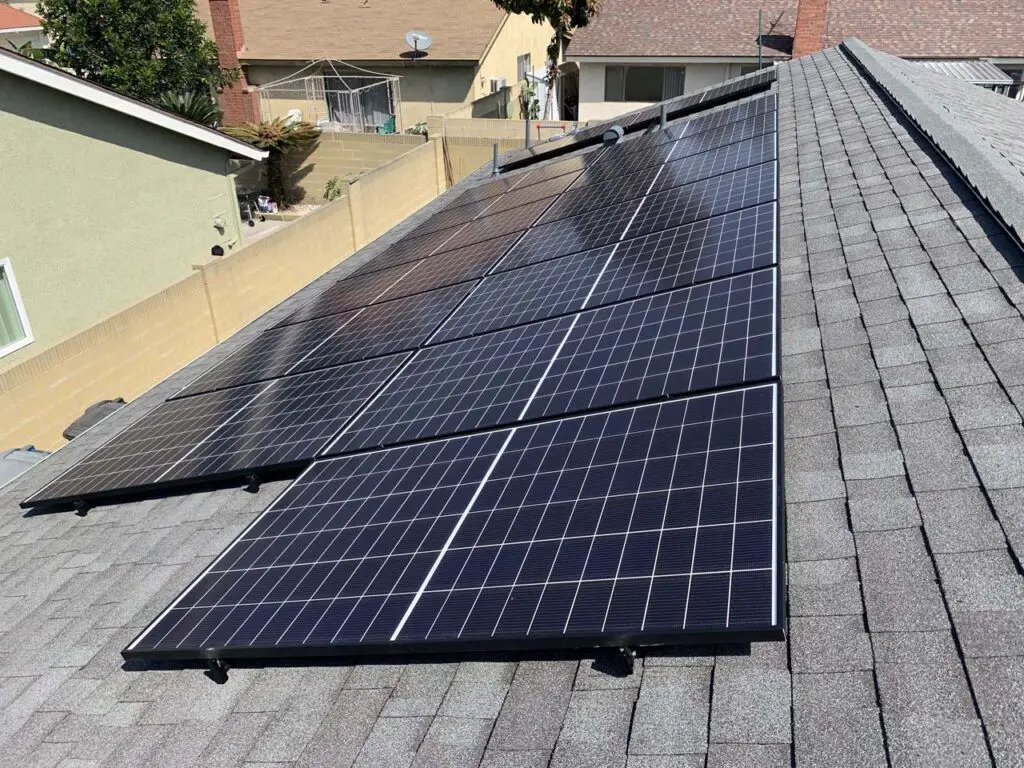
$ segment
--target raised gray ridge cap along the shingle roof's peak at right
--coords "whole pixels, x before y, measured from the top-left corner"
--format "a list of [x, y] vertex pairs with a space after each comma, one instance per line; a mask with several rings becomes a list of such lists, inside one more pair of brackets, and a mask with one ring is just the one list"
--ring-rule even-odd
[[842, 49], [884, 90], [946, 161], [967, 179], [1018, 241], [1024, 243], [1024, 177], [1015, 174], [986, 143], [972, 140], [952, 117], [922, 97], [878, 52], [857, 38]]

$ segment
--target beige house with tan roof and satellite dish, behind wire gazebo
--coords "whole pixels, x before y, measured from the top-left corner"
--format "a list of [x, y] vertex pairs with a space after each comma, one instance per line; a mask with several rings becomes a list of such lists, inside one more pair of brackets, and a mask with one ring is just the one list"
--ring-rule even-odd
[[[512, 85], [524, 72], [543, 69], [551, 40], [549, 26], [504, 13], [490, 0], [200, 0], [197, 8], [220, 48], [221, 66], [241, 65], [244, 72], [242, 82], [221, 94], [228, 123], [258, 120], [260, 99], [254, 89], [300, 73], [323, 72], [326, 78], [316, 77], [308, 86], [296, 83], [292, 93], [279, 90], [280, 103], [267, 103], [263, 117], [290, 109], [307, 120], [325, 113], [332, 117], [346, 86], [335, 68], [318, 62], [334, 59], [378, 76], [358, 81], [359, 86], [399, 78], [400, 102], [383, 87], [366, 94], [362, 108], [397, 116], [401, 130], [488, 95], [492, 81]], [[419, 57], [406, 44], [410, 31], [432, 39]], [[315, 65], [312, 70], [310, 63]], [[344, 66], [337, 69], [360, 75]]]

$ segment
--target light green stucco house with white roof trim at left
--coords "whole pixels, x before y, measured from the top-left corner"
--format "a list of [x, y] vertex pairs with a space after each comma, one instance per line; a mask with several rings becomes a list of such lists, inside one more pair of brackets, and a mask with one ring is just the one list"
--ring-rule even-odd
[[0, 51], [0, 369], [238, 247], [236, 161], [264, 157]]

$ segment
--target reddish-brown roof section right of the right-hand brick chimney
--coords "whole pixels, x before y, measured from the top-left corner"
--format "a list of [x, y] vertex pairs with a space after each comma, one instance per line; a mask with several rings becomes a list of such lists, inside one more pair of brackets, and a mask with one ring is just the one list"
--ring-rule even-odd
[[899, 56], [1024, 56], [1020, 0], [831, 0], [825, 45], [857, 37]]

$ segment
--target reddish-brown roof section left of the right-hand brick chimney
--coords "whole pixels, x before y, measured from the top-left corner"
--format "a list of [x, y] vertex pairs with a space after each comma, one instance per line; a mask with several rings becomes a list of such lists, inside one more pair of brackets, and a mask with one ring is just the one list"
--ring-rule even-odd
[[756, 56], [758, 9], [766, 54], [788, 53], [797, 0], [604, 0], [568, 55]]

